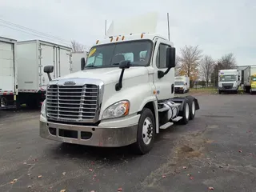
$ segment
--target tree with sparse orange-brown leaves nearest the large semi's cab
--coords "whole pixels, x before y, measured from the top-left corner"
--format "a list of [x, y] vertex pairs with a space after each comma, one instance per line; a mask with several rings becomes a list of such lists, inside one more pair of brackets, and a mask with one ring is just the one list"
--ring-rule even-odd
[[185, 46], [181, 49], [181, 69], [179, 74], [190, 77], [190, 81], [198, 78], [198, 65], [202, 57], [202, 50], [198, 46]]

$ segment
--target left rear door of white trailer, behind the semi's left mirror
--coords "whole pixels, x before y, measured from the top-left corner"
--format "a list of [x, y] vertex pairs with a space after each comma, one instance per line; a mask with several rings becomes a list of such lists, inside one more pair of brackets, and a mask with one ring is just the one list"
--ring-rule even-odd
[[46, 90], [46, 86], [49, 83], [47, 74], [43, 72], [45, 66], [54, 66], [54, 72], [50, 75], [53, 79], [57, 78], [55, 50], [54, 46], [39, 43], [39, 87], [42, 90]]

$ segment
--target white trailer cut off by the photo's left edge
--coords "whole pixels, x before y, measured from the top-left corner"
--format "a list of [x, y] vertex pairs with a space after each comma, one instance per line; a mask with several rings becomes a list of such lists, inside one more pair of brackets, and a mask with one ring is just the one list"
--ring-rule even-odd
[[18, 94], [16, 46], [16, 40], [0, 37], [0, 110], [16, 106]]

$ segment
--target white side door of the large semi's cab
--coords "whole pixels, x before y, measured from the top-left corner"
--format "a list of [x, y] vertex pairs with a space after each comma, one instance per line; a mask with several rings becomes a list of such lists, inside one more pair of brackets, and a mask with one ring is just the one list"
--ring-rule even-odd
[[168, 68], [166, 66], [166, 50], [168, 47], [170, 47], [170, 42], [158, 38], [153, 58], [154, 86], [157, 90], [158, 100], [174, 98], [174, 68], [170, 69], [164, 77], [158, 78], [158, 71], [165, 72]]

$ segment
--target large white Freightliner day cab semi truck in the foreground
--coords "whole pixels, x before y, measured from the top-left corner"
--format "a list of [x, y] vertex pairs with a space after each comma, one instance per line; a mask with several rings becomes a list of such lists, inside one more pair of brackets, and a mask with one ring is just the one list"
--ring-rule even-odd
[[[160, 130], [194, 118], [198, 100], [174, 98], [174, 44], [158, 34], [135, 33], [135, 28], [108, 33], [92, 46], [86, 62], [82, 58], [81, 71], [49, 82], [40, 115], [42, 138], [132, 145], [146, 154]], [[53, 70], [44, 68], [49, 76]]]

